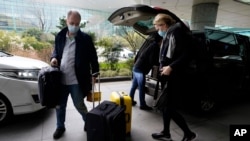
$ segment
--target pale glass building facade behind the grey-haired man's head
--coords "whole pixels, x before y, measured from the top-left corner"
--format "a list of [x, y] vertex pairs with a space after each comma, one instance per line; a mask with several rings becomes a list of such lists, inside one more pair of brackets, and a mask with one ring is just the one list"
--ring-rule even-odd
[[30, 0], [0, 0], [0, 30], [22, 32], [37, 28], [43, 32], [58, 32], [60, 18], [66, 18], [70, 9], [81, 13], [83, 29], [94, 32], [98, 36], [113, 34], [115, 27], [107, 20], [110, 13], [67, 7], [65, 5], [49, 4]]

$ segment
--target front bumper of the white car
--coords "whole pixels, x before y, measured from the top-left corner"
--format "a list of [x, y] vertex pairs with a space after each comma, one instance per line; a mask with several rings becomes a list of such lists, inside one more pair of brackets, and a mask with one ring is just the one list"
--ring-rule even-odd
[[10, 101], [14, 115], [32, 113], [44, 108], [39, 101], [37, 81], [2, 76], [0, 80], [0, 92]]

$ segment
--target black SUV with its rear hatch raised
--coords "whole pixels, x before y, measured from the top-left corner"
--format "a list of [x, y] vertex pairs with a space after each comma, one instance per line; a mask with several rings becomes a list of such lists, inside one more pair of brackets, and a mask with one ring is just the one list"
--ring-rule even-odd
[[[166, 13], [184, 24], [172, 12], [147, 5], [123, 7], [111, 14], [108, 20], [114, 25], [130, 26], [149, 35], [155, 32], [153, 19], [158, 13]], [[192, 60], [187, 71], [187, 105], [194, 103], [202, 111], [211, 111], [215, 105], [231, 96], [250, 92], [250, 39], [233, 32], [206, 27], [203, 31], [191, 31], [193, 36]], [[147, 45], [144, 43], [144, 45]], [[147, 76], [146, 91], [157, 98], [155, 69]], [[161, 88], [159, 88], [160, 93]]]

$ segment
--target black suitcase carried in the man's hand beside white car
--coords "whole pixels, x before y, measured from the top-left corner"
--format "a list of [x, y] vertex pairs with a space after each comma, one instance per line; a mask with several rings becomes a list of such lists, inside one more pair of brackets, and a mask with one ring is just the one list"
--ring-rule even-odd
[[62, 73], [57, 67], [43, 67], [38, 73], [39, 100], [42, 106], [54, 108], [59, 104]]

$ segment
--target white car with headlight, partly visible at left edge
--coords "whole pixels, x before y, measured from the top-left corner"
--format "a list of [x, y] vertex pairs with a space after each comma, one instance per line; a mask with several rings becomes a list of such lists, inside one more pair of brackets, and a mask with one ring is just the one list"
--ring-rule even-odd
[[39, 111], [38, 72], [49, 64], [0, 51], [0, 124], [13, 115]]

